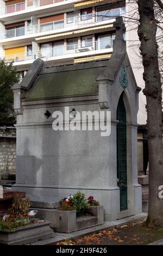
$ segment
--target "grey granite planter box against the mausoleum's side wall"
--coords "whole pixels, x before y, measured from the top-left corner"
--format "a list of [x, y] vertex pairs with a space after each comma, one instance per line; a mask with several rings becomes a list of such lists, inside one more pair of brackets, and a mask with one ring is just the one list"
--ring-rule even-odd
[[76, 210], [39, 209], [37, 216], [51, 222], [51, 228], [58, 232], [70, 233], [104, 223], [103, 206], [91, 206], [87, 210], [92, 216], [77, 217]]

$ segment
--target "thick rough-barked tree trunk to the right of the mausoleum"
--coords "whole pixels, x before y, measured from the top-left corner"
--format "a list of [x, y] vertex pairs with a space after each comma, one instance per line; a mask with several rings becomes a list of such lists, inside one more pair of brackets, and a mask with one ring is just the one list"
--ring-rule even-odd
[[137, 0], [140, 23], [138, 35], [143, 62], [143, 94], [147, 99], [148, 152], [149, 152], [149, 206], [148, 226], [163, 227], [163, 199], [159, 198], [159, 187], [163, 185], [162, 149], [162, 90], [154, 22], [154, 1]]

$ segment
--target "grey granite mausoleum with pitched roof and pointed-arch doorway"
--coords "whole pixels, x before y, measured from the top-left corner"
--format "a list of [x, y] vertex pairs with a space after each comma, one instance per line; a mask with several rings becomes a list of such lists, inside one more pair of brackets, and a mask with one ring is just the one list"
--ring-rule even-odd
[[[81, 191], [104, 206], [105, 220], [141, 212], [137, 183], [140, 88], [126, 52], [121, 17], [114, 26], [109, 60], [46, 68], [43, 60], [36, 59], [22, 82], [12, 87], [17, 113], [14, 189], [25, 191], [37, 205]], [[65, 107], [70, 108], [71, 118], [77, 111], [111, 111], [110, 136], [101, 136], [100, 130], [54, 131], [53, 113], [64, 113]]]

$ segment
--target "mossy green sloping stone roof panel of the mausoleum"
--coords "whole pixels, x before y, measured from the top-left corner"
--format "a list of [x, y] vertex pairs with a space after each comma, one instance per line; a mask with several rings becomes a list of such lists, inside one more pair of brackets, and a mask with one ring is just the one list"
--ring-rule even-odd
[[96, 77], [108, 61], [74, 64], [42, 69], [26, 99], [98, 94]]

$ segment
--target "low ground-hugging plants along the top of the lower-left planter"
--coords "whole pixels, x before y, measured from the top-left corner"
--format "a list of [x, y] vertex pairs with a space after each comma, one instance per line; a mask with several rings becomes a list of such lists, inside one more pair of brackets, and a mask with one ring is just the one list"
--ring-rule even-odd
[[3, 221], [0, 220], [0, 231], [4, 229], [8, 229], [10, 232], [15, 232], [18, 227], [22, 227], [23, 225], [30, 224], [30, 221], [27, 218], [8, 218], [7, 220]]

